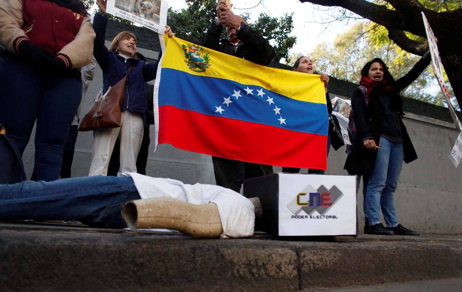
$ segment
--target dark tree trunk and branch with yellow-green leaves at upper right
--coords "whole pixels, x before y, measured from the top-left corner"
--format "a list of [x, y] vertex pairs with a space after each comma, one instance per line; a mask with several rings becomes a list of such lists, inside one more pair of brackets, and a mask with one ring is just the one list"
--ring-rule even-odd
[[[462, 4], [460, 0], [300, 0], [322, 6], [342, 7], [342, 17], [350, 11], [371, 20], [371, 41], [386, 44], [387, 38], [402, 50], [423, 55], [427, 48], [421, 12], [435, 36], [448, 79], [459, 105], [462, 104]], [[340, 18], [342, 18], [340, 17]], [[378, 26], [377, 24], [381, 25]], [[399, 50], [398, 50], [399, 53]], [[404, 53], [402, 53], [404, 54]]]

